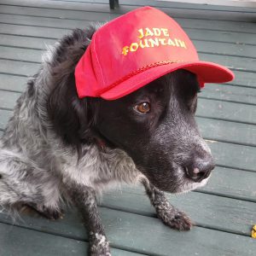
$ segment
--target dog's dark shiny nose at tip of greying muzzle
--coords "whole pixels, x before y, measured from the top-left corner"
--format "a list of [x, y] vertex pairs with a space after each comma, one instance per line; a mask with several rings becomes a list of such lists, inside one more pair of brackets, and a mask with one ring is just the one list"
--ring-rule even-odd
[[189, 166], [185, 167], [187, 176], [195, 182], [200, 183], [203, 179], [210, 176], [215, 164], [211, 154], [207, 154], [203, 159], [195, 158]]

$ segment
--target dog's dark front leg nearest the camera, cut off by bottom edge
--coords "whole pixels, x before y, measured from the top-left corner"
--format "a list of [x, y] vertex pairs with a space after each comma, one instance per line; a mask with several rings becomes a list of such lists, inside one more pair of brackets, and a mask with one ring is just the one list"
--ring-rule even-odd
[[96, 205], [96, 192], [86, 186], [73, 185], [70, 190], [73, 202], [82, 213], [89, 235], [91, 256], [111, 256], [101, 218]]

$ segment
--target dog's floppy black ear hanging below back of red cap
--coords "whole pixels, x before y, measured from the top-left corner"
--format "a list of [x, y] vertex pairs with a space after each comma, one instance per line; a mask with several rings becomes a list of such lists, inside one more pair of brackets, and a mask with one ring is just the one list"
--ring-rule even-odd
[[96, 123], [96, 99], [79, 99], [75, 79], [71, 74], [49, 95], [47, 110], [53, 130], [73, 146], [89, 142]]

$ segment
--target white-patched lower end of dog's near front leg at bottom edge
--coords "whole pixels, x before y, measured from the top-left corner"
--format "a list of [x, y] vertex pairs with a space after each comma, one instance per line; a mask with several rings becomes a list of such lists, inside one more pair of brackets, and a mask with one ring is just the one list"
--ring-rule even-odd
[[109, 243], [105, 235], [90, 232], [90, 256], [111, 256]]

